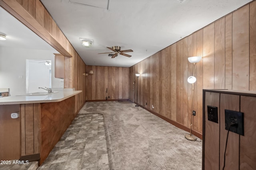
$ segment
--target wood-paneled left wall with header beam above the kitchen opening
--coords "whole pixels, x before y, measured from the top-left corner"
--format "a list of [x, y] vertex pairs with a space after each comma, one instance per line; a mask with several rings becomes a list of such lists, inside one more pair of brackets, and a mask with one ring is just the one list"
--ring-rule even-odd
[[[76, 111], [86, 100], [86, 64], [72, 47], [40, 0], [0, 0], [0, 6], [65, 56], [64, 88], [83, 92], [76, 95]], [[68, 73], [68, 74], [67, 74]]]

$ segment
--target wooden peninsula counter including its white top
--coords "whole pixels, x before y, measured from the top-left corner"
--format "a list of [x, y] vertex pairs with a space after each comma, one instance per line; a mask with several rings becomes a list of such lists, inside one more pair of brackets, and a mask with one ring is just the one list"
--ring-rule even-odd
[[79, 111], [75, 96], [80, 92], [0, 98], [0, 160], [38, 160], [41, 165]]

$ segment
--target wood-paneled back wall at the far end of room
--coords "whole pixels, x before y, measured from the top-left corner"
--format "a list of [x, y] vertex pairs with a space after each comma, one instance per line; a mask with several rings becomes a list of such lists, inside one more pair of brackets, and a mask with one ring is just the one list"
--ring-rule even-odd
[[[129, 68], [110, 66], [86, 66], [86, 100], [129, 99]], [[106, 93], [106, 89], [108, 91]]]

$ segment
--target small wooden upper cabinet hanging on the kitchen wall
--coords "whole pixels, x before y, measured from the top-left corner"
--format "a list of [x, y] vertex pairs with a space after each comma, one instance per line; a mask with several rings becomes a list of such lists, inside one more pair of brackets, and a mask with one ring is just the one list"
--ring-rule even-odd
[[64, 72], [65, 72], [64, 56], [61, 54], [54, 54], [54, 55], [55, 55], [54, 76], [55, 78], [64, 78]]

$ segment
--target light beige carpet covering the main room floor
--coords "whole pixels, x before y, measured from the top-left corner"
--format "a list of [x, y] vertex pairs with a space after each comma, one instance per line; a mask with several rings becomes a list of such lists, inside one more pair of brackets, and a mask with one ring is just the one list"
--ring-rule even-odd
[[87, 102], [80, 113], [104, 116], [111, 170], [202, 169], [202, 142], [131, 102]]

